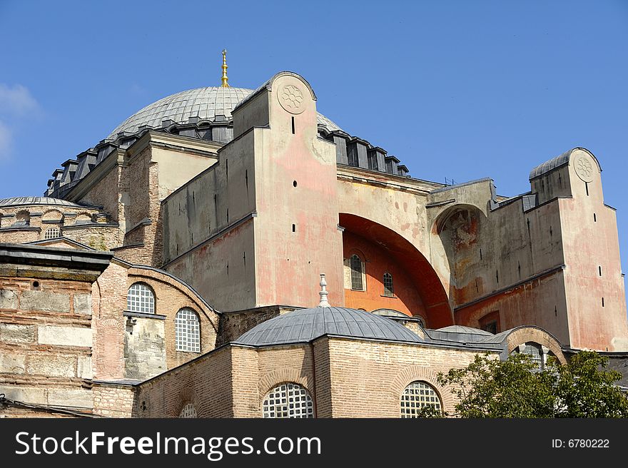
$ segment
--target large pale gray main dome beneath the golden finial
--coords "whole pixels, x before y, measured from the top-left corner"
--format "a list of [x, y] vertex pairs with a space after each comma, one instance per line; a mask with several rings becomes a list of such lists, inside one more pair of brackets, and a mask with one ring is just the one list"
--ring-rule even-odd
[[[182, 91], [137, 111], [118, 125], [107, 139], [115, 140], [121, 132], [136, 133], [143, 125], [160, 128], [161, 122], [168, 119], [176, 123], [187, 123], [188, 118], [198, 117], [200, 120], [213, 122], [216, 121], [216, 116], [225, 116], [226, 120], [231, 120], [233, 108], [250, 93], [253, 93], [252, 89], [221, 86]], [[329, 131], [340, 130], [340, 127], [320, 113], [318, 123], [326, 126]]]

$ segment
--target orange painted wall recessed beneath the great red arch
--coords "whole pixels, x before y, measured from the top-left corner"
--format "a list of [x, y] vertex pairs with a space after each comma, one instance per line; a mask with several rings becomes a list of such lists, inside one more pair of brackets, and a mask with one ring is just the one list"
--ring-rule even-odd
[[[343, 258], [350, 258], [357, 253], [365, 260], [366, 290], [354, 291], [345, 288], [345, 306], [364, 309], [369, 312], [386, 308], [403, 312], [407, 315], [420, 315], [427, 318], [425, 306], [414, 283], [405, 270], [390, 258], [387, 251], [360, 235], [345, 230], [343, 233]], [[395, 297], [385, 297], [384, 273], [393, 275]], [[429, 327], [430, 324], [427, 323]]]

